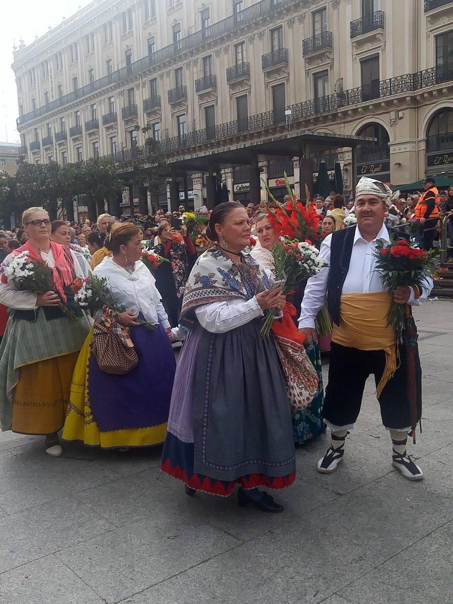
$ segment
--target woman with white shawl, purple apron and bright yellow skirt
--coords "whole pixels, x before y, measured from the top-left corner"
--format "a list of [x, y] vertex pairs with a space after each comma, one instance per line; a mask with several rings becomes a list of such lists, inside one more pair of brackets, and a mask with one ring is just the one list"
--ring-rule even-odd
[[[159, 445], [165, 439], [176, 366], [170, 323], [155, 278], [140, 260], [137, 226], [114, 225], [105, 245], [112, 257], [105, 257], [93, 275], [107, 278], [115, 304], [127, 309], [119, 321], [130, 329], [138, 365], [124, 375], [101, 371], [91, 353], [90, 332], [74, 370], [63, 439], [103, 449]], [[137, 317], [157, 329], [139, 325]]]

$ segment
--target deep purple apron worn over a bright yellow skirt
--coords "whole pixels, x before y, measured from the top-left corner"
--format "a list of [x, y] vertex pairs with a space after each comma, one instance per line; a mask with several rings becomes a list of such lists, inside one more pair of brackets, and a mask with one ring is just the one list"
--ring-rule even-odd
[[88, 397], [101, 432], [150, 428], [167, 422], [176, 361], [159, 324], [155, 332], [130, 327], [138, 365], [122, 376], [101, 371], [94, 355], [88, 361]]

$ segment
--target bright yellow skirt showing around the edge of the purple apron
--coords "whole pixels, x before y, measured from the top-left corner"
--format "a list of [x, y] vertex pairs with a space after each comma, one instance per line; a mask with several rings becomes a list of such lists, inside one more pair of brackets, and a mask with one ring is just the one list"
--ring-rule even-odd
[[167, 433], [166, 422], [150, 428], [129, 428], [109, 432], [99, 430], [93, 419], [88, 398], [87, 370], [92, 335], [91, 330], [74, 368], [63, 439], [81, 440], [85, 445], [100, 446], [102, 449], [146, 447], [163, 443]]

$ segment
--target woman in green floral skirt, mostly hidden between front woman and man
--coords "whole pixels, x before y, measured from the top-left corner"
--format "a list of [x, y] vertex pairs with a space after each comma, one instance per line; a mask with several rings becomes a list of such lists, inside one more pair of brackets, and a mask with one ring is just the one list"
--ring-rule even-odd
[[[274, 271], [274, 257], [271, 252], [271, 248], [275, 243], [278, 242], [278, 233], [272, 226], [269, 220], [268, 214], [258, 214], [256, 221], [256, 233], [259, 240], [259, 246], [256, 245], [250, 252], [254, 259], [259, 263], [260, 266]], [[303, 297], [303, 289], [300, 288], [300, 295], [287, 297], [288, 303], [286, 305], [286, 312], [288, 312], [294, 323], [298, 318], [298, 312], [300, 312], [300, 301]], [[292, 298], [296, 297], [297, 300]], [[294, 325], [294, 330], [297, 332], [297, 327]], [[283, 332], [282, 332], [283, 333]], [[294, 404], [292, 410], [292, 426], [294, 431], [294, 442], [296, 445], [303, 445], [307, 440], [317, 439], [323, 428], [323, 399], [324, 399], [324, 387], [323, 387], [323, 369], [321, 367], [321, 355], [316, 342], [304, 342], [304, 346], [297, 347], [297, 336], [301, 337], [298, 333], [291, 333], [286, 331], [284, 333], [285, 338], [280, 339], [277, 336], [277, 341], [280, 341], [280, 355], [288, 354], [290, 357], [297, 354], [298, 358], [289, 359], [289, 361], [297, 361], [299, 370], [297, 374], [292, 374], [292, 381], [294, 383], [288, 384], [287, 389], [289, 392], [295, 393], [296, 390], [300, 393], [304, 393], [304, 396], [298, 397], [300, 400], [298, 404]], [[294, 338], [294, 341], [292, 341]], [[290, 342], [293, 342], [292, 344]], [[308, 357], [307, 359], [304, 357]], [[283, 365], [285, 364], [284, 359]], [[311, 363], [311, 366], [308, 365]], [[315, 370], [315, 376], [313, 376], [313, 368]], [[285, 376], [289, 377], [289, 372]], [[313, 380], [313, 377], [315, 379]], [[313, 391], [314, 386], [314, 391]]]

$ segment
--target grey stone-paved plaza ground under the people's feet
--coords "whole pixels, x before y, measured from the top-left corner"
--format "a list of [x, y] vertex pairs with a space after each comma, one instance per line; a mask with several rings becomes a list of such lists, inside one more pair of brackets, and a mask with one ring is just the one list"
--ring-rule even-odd
[[188, 498], [158, 449], [71, 444], [51, 459], [42, 439], [6, 432], [0, 603], [451, 604], [453, 304], [415, 315], [424, 408], [410, 451], [425, 480], [391, 466], [371, 380], [338, 471], [315, 470], [326, 436], [299, 449], [278, 515]]

